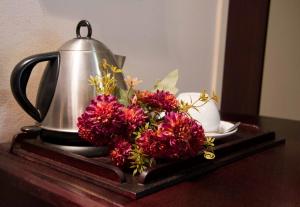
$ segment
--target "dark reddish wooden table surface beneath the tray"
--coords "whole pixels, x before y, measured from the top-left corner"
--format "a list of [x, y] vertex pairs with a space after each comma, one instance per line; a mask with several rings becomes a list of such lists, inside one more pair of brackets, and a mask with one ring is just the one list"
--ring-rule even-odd
[[223, 115], [257, 124], [286, 139], [193, 180], [138, 200], [123, 197], [45, 166], [0, 145], [0, 206], [300, 206], [300, 122]]

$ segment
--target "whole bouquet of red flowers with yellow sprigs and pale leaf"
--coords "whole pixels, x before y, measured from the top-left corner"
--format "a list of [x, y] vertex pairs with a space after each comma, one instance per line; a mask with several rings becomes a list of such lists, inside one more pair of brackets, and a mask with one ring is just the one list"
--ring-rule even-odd
[[[169, 73], [150, 90], [138, 90], [141, 81], [127, 77], [127, 89], [117, 87], [122, 70], [101, 62], [103, 76], [89, 83], [99, 94], [78, 118], [79, 136], [96, 146], [108, 146], [110, 158], [122, 169], [140, 174], [159, 162], [188, 159], [199, 154], [213, 159], [213, 138], [205, 137], [201, 123], [188, 114], [194, 103], [176, 99], [178, 71]], [[204, 92], [199, 101], [216, 100]]]

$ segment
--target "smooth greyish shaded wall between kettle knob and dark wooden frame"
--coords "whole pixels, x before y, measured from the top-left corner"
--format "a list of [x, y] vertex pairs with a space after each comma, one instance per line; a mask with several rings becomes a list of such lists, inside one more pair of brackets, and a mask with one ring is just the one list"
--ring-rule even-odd
[[93, 37], [127, 57], [125, 73], [143, 87], [179, 69], [183, 91], [210, 90], [218, 0], [39, 0], [46, 15], [73, 25], [87, 19]]

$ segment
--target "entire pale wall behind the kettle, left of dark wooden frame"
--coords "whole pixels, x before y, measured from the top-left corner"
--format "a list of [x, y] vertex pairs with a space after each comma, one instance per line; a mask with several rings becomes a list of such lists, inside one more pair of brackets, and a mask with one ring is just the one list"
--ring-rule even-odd
[[[0, 142], [34, 121], [13, 99], [9, 78], [23, 58], [55, 51], [75, 37], [79, 20], [88, 19], [93, 37], [127, 56], [126, 74], [149, 88], [180, 69], [181, 91], [216, 89], [223, 68], [228, 0], [1, 0]], [[30, 78], [34, 102], [41, 68]], [[8, 136], [3, 136], [8, 134]]]

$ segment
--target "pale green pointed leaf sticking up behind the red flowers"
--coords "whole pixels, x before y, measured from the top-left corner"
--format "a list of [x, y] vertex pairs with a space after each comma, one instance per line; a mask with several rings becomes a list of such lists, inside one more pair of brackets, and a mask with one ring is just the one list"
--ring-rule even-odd
[[176, 87], [178, 81], [178, 70], [173, 70], [170, 72], [165, 78], [159, 80], [155, 86], [153, 91], [156, 90], [164, 90], [169, 91], [170, 93], [176, 94], [178, 88]]

